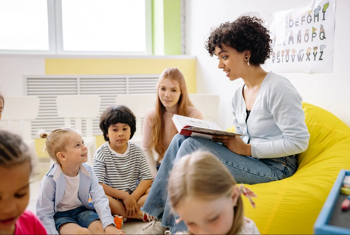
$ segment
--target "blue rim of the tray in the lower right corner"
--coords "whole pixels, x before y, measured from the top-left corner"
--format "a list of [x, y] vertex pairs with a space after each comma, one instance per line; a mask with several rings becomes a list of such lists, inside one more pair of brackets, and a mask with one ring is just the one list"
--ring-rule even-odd
[[[329, 224], [332, 214], [334, 213], [334, 209], [341, 210], [341, 207], [339, 207], [338, 202], [340, 196], [340, 188], [342, 187], [344, 177], [349, 175], [350, 171], [348, 170], [341, 170], [339, 172], [339, 175], [332, 187], [332, 190], [329, 192], [327, 200], [324, 202], [321, 212], [318, 215], [317, 220], [314, 224], [314, 234], [350, 234], [349, 228]], [[349, 213], [346, 216], [350, 216], [350, 210], [343, 213]]]

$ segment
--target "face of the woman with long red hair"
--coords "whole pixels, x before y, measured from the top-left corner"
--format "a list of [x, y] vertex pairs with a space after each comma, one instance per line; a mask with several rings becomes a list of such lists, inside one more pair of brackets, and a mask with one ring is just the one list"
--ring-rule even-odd
[[163, 79], [159, 85], [158, 95], [166, 110], [175, 112], [181, 95], [179, 83], [168, 78]]

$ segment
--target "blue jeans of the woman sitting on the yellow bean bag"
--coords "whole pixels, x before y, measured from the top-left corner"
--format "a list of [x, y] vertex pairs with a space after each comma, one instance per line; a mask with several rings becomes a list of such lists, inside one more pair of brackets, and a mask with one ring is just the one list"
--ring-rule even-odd
[[237, 183], [258, 184], [280, 180], [292, 176], [297, 169], [297, 159], [294, 156], [255, 159], [235, 154], [223, 145], [201, 137], [176, 134], [141, 208], [142, 211], [161, 219], [162, 226], [170, 228], [172, 234], [187, 231], [187, 227], [183, 221], [176, 224], [175, 220], [179, 216], [170, 210], [167, 190], [169, 173], [180, 157], [196, 150], [212, 152], [229, 169]]

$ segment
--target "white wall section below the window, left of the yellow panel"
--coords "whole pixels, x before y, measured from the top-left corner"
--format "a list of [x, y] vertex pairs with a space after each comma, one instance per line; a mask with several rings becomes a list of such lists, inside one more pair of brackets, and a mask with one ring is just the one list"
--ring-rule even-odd
[[25, 74], [45, 74], [45, 59], [26, 56], [0, 56], [0, 91], [5, 96], [24, 95], [23, 76]]

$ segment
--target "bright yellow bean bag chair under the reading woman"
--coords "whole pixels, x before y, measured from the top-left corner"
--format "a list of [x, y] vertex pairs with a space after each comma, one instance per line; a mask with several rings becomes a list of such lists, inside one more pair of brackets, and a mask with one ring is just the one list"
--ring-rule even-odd
[[256, 208], [243, 197], [245, 216], [261, 234], [313, 234], [313, 225], [341, 169], [350, 169], [350, 128], [330, 112], [303, 102], [308, 149], [289, 178], [246, 185]]

